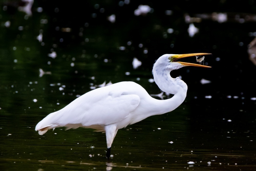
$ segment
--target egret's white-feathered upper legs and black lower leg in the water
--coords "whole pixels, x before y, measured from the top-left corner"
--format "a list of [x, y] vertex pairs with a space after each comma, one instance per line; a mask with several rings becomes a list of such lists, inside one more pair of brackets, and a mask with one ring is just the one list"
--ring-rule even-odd
[[106, 157], [110, 158], [110, 151], [111, 151], [111, 145], [113, 143], [113, 140], [115, 138], [115, 135], [117, 133], [116, 125], [107, 125], [105, 126], [106, 131], [106, 140], [107, 140], [107, 153]]

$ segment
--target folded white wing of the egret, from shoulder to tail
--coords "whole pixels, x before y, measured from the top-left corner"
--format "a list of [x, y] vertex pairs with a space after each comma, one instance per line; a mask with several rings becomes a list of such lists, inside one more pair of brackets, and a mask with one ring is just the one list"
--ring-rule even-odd
[[94, 89], [61, 110], [46, 116], [37, 124], [36, 130], [46, 127], [47, 129], [60, 126], [79, 127], [75, 125], [90, 127], [117, 123], [127, 117], [140, 103], [140, 97], [132, 94], [135, 84], [121, 82]]

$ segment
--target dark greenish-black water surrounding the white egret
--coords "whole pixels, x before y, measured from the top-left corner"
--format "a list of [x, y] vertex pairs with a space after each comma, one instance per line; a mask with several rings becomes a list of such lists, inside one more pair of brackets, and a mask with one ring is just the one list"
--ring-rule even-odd
[[[256, 35], [254, 1], [80, 3], [37, 1], [32, 16], [14, 1], [0, 4], [1, 170], [255, 170], [256, 66], [247, 53]], [[140, 4], [151, 11], [134, 15]], [[214, 19], [214, 12], [227, 14], [227, 21]], [[112, 14], [114, 23], [107, 19]], [[199, 29], [193, 37], [192, 20]], [[184, 103], [120, 129], [109, 161], [105, 134], [35, 132], [46, 115], [104, 81], [134, 81], [159, 94], [148, 81], [155, 60], [199, 52], [212, 53], [205, 56], [212, 68], [171, 73], [188, 85]], [[137, 69], [134, 57], [142, 62]], [[40, 75], [40, 68], [50, 73]]]

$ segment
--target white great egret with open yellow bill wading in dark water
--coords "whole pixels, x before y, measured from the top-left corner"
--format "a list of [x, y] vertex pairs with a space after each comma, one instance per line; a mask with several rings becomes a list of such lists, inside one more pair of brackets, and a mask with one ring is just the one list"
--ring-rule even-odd
[[158, 87], [172, 98], [158, 100], [134, 82], [119, 82], [100, 87], [78, 97], [66, 107], [53, 112], [36, 125], [36, 131], [43, 135], [48, 129], [56, 127], [93, 128], [106, 133], [107, 152], [110, 150], [118, 129], [139, 122], [149, 116], [160, 115], [176, 109], [187, 95], [187, 84], [179, 77], [172, 78], [170, 72], [184, 66], [205, 65], [175, 62], [179, 58], [208, 55], [210, 53], [165, 54], [153, 66], [153, 75]]

